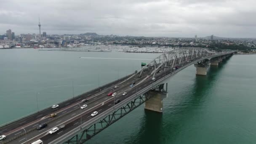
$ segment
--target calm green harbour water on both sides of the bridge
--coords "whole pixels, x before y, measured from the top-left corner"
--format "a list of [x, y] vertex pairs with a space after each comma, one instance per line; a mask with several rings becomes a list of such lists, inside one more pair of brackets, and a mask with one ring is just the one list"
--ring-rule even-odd
[[[0, 124], [139, 69], [153, 53], [12, 49], [0, 51]], [[190, 66], [168, 82], [163, 114], [138, 107], [88, 144], [253, 144], [256, 141], [256, 55], [237, 55], [207, 76]], [[118, 72], [119, 71], [119, 72]], [[99, 78], [100, 75], [100, 78]], [[5, 110], [8, 108], [8, 110]]]

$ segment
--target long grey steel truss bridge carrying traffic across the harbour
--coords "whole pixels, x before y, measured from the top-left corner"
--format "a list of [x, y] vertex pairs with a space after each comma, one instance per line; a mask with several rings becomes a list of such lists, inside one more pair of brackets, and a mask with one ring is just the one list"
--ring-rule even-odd
[[[0, 144], [31, 144], [38, 139], [44, 144], [83, 144], [141, 104], [145, 104], [145, 109], [163, 112], [170, 77], [192, 64], [196, 67], [196, 75], [207, 75], [209, 65], [217, 66], [234, 52], [209, 53], [202, 48], [191, 48], [163, 53], [142, 65], [139, 72], [62, 101], [56, 109], [47, 107], [1, 125], [0, 135], [5, 135], [6, 139], [0, 140]], [[117, 95], [107, 96], [110, 92]], [[83, 99], [88, 102], [84, 103]], [[88, 107], [80, 109], [83, 104]], [[94, 111], [98, 115], [92, 117]], [[56, 117], [50, 117], [53, 113]], [[42, 123], [48, 126], [37, 130]], [[65, 127], [51, 135], [48, 133], [61, 125]]]

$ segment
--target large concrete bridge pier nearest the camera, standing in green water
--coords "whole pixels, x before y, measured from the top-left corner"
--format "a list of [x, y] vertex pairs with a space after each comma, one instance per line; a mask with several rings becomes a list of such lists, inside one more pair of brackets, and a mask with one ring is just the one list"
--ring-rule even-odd
[[163, 99], [166, 98], [168, 93], [159, 91], [149, 91], [149, 95], [153, 95], [145, 102], [145, 109], [155, 112], [163, 112]]

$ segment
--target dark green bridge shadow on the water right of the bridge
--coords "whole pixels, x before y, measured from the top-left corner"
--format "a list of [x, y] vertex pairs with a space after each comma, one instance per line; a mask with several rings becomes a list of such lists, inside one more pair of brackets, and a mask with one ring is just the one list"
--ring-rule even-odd
[[[125, 141], [125, 144], [180, 144], [182, 139], [180, 135], [188, 123], [193, 124], [191, 119], [203, 118], [195, 116], [200, 112], [203, 105], [207, 104], [207, 95], [216, 85], [221, 71], [230, 58], [225, 59], [219, 66], [211, 66], [208, 69], [207, 76], [196, 76], [191, 87], [184, 90], [183, 98], [174, 96], [178, 102], [173, 102], [172, 97], [164, 99], [163, 114], [144, 111], [144, 117], [141, 118], [139, 131], [134, 131], [132, 135]], [[183, 90], [181, 90], [183, 91]], [[178, 92], [179, 93], [179, 92]], [[180, 92], [182, 93], [182, 92]], [[165, 101], [169, 101], [166, 102]], [[175, 103], [175, 104], [174, 104]], [[186, 135], [187, 136], [187, 135]], [[188, 137], [186, 139], [193, 139]]]

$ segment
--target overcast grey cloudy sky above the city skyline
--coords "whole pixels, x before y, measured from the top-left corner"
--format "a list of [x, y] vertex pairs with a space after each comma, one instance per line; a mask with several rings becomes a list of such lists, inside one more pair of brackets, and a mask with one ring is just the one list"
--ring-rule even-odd
[[0, 35], [256, 37], [256, 0], [0, 0]]

